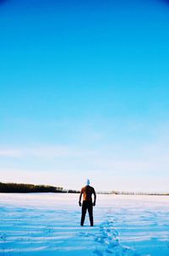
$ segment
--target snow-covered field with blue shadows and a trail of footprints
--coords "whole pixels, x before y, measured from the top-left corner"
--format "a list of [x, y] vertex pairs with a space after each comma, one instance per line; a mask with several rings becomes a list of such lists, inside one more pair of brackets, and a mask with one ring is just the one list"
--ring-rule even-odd
[[169, 255], [169, 197], [98, 195], [95, 226], [78, 194], [0, 194], [0, 255]]

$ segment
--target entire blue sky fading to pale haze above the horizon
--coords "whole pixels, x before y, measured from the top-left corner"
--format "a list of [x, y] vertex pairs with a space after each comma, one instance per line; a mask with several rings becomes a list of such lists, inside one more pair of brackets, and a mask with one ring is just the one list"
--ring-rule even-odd
[[0, 1], [0, 181], [168, 192], [169, 3]]

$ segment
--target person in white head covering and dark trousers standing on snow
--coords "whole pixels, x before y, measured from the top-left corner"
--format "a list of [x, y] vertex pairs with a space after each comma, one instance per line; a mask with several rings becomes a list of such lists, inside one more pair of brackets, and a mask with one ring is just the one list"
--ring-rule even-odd
[[[83, 194], [83, 203], [81, 198]], [[94, 202], [92, 203], [92, 194], [94, 194]], [[79, 195], [79, 206], [82, 205], [81, 225], [84, 225], [86, 210], [90, 215], [90, 225], [93, 226], [93, 206], [95, 206], [96, 194], [94, 187], [90, 186], [90, 180], [87, 180], [86, 186], [82, 187]]]

